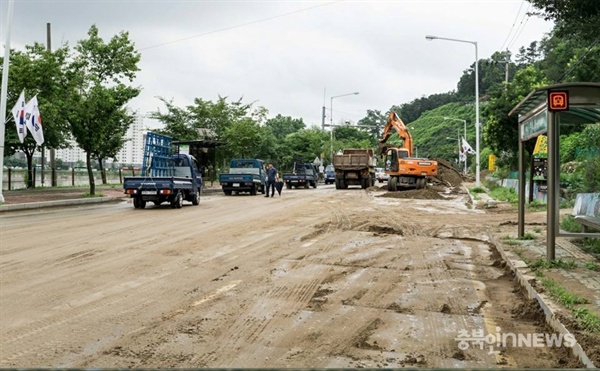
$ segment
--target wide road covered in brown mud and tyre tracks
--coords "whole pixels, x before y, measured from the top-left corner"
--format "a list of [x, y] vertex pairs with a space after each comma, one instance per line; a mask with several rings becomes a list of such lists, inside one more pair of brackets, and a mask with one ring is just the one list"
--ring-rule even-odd
[[[385, 186], [385, 185], [384, 185]], [[565, 348], [459, 347], [543, 333], [454, 191], [359, 188], [121, 202], [0, 216], [0, 367], [558, 367]]]

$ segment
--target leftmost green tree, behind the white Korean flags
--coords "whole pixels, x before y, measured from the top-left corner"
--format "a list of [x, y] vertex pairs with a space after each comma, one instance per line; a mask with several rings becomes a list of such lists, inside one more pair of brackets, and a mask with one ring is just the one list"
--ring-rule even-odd
[[[15, 105], [23, 90], [25, 90], [26, 100], [37, 95], [45, 148], [65, 147], [69, 137], [68, 125], [63, 115], [67, 105], [63, 93], [69, 86], [66, 74], [68, 56], [69, 49], [66, 46], [49, 52], [39, 43], [26, 46], [23, 52], [11, 50], [7, 107], [10, 109]], [[25, 154], [28, 171], [27, 188], [31, 188], [34, 185], [33, 155], [41, 148], [31, 135], [27, 135], [21, 143], [12, 113], [10, 115], [11, 119], [6, 126], [8, 130], [5, 131], [4, 156], [8, 157], [17, 151]]]

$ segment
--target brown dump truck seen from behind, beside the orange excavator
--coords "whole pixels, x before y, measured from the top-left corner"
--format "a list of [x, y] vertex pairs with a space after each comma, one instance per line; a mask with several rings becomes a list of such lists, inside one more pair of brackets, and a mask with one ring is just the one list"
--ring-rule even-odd
[[335, 189], [359, 185], [362, 189], [375, 185], [375, 155], [372, 149], [347, 148], [333, 156]]

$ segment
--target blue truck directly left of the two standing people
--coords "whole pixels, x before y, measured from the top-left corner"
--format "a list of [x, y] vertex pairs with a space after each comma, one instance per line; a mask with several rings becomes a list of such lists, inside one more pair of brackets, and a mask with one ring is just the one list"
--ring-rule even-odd
[[248, 192], [256, 195], [265, 193], [266, 174], [264, 161], [258, 159], [234, 159], [229, 164], [229, 172], [219, 175], [219, 183], [226, 196], [232, 193]]

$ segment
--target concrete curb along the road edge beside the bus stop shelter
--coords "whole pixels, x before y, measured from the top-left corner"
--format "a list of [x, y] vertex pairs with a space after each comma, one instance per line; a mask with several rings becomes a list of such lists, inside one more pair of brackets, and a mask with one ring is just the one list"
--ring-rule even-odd
[[[496, 249], [498, 250], [498, 252], [500, 253], [500, 255], [502, 256], [502, 259], [506, 262], [506, 264], [508, 265], [508, 267], [510, 268], [510, 270], [513, 272], [513, 274], [515, 275], [515, 277], [517, 277], [517, 280], [519, 281], [519, 284], [521, 285], [521, 287], [523, 287], [526, 291], [527, 294], [529, 296], [530, 299], [535, 299], [538, 304], [540, 305], [540, 307], [542, 308], [542, 310], [544, 311], [544, 315], [545, 315], [545, 319], [546, 319], [546, 323], [556, 332], [562, 334], [563, 336], [570, 334], [570, 336], [573, 336], [574, 339], [575, 335], [572, 334], [569, 330], [567, 330], [567, 328], [565, 327], [565, 325], [563, 325], [560, 320], [558, 319], [558, 317], [556, 316], [556, 314], [554, 313], [554, 311], [552, 310], [552, 308], [550, 307], [550, 305], [548, 303], [546, 303], [546, 301], [544, 301], [544, 297], [542, 295], [540, 295], [537, 291], [535, 291], [535, 289], [533, 288], [533, 286], [531, 285], [531, 283], [529, 283], [529, 279], [535, 278], [533, 276], [529, 276], [527, 277], [525, 274], [523, 274], [523, 272], [521, 272], [519, 270], [519, 267], [523, 268], [523, 267], [527, 267], [527, 264], [521, 260], [512, 260], [510, 259], [510, 257], [508, 256], [508, 254], [506, 253], [506, 251], [504, 251], [501, 247], [501, 244], [493, 237], [490, 236], [490, 242], [494, 244], [494, 246], [496, 246]], [[594, 365], [594, 363], [590, 360], [590, 358], [588, 357], [588, 355], [585, 353], [585, 351], [583, 350], [583, 348], [581, 347], [581, 345], [579, 345], [579, 343], [576, 343], [572, 348], [571, 348], [573, 354], [579, 358], [579, 360], [585, 365], [585, 367], [587, 368], [596, 368], [596, 366]]]

